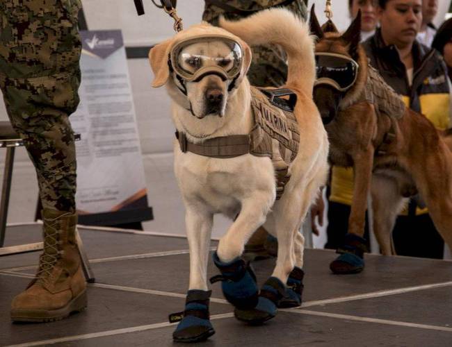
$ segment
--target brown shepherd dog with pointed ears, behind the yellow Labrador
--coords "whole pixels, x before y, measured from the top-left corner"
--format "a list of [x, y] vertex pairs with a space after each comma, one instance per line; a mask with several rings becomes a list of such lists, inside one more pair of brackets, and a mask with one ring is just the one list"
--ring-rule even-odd
[[332, 87], [328, 83], [314, 87], [314, 101], [330, 139], [330, 163], [353, 167], [355, 174], [346, 236], [351, 239], [346, 241], [344, 249], [338, 250], [342, 254], [330, 268], [334, 273], [362, 270], [361, 238], [369, 192], [373, 231], [382, 254], [394, 254], [392, 229], [396, 217], [408, 198], [418, 192], [435, 227], [452, 247], [452, 154], [446, 144], [452, 144], [451, 138], [444, 137], [426, 117], [409, 108], [401, 109], [401, 117], [393, 117], [378, 107], [378, 96], [374, 103], [359, 100], [371, 72], [384, 83], [382, 90], [394, 92], [369, 66], [360, 46], [360, 14], [341, 35], [331, 21], [321, 27], [313, 8], [310, 26], [318, 37], [315, 49], [318, 58], [325, 53], [331, 57], [333, 53], [333, 58], [354, 60], [358, 65], [357, 76], [348, 89], [341, 90], [341, 86]]

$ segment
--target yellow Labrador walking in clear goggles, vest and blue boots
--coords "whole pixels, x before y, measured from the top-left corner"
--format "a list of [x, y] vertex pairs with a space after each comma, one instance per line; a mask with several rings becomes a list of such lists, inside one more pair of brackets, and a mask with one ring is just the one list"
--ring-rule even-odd
[[[172, 99], [177, 129], [175, 174], [186, 207], [190, 247], [186, 307], [170, 315], [170, 321], [180, 321], [173, 333], [176, 341], [201, 341], [214, 333], [209, 321], [207, 261], [216, 213], [234, 222], [213, 255], [221, 275], [211, 282], [222, 282], [236, 318], [262, 323], [275, 316], [278, 306], [300, 305], [304, 239], [298, 230], [328, 172], [328, 137], [312, 101], [316, 71], [307, 24], [289, 11], [272, 9], [240, 22], [220, 20], [220, 26], [192, 26], [150, 51], [153, 87], [166, 85]], [[269, 107], [265, 94], [250, 86], [246, 73], [252, 44], [279, 44], [286, 51], [289, 76], [284, 87], [292, 91], [289, 100], [296, 99], [295, 123], [277, 118], [279, 111]], [[284, 98], [274, 99], [289, 104]], [[258, 153], [264, 131], [252, 135], [257, 130], [256, 112], [264, 115], [264, 128], [273, 129], [266, 128], [269, 132], [291, 141], [294, 133], [299, 134], [285, 175], [290, 179], [277, 201], [273, 163], [280, 154]], [[292, 135], [287, 133], [289, 124], [295, 124]], [[270, 143], [277, 147], [273, 139]], [[273, 274], [259, 292], [241, 254], [263, 224], [277, 237], [279, 248]]]

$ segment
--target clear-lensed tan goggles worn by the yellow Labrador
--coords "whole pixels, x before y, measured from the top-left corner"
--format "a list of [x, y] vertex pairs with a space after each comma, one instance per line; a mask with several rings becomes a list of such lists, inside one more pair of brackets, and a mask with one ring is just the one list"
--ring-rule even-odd
[[179, 42], [170, 53], [170, 66], [187, 82], [200, 81], [206, 75], [216, 74], [223, 81], [240, 74], [243, 49], [229, 37], [210, 35]]

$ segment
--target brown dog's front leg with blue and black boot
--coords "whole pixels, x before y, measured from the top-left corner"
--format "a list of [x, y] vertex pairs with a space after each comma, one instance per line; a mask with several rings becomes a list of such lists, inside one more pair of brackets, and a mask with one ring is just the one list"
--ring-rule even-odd
[[357, 273], [364, 269], [364, 251], [366, 240], [363, 238], [366, 223], [367, 197], [371, 187], [373, 167], [373, 147], [369, 146], [353, 157], [355, 187], [350, 217], [348, 219], [348, 234], [343, 246], [337, 249], [339, 257], [330, 264], [334, 273]]

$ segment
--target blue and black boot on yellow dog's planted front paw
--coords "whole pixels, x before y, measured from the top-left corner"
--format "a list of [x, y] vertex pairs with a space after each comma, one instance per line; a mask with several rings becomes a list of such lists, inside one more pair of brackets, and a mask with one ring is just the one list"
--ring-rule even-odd
[[197, 289], [187, 292], [185, 310], [169, 316], [170, 323], [179, 322], [172, 339], [177, 342], [200, 342], [215, 334], [209, 321], [211, 292]]

